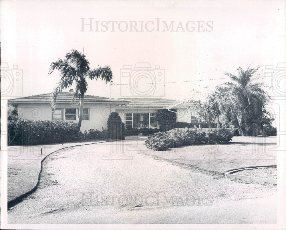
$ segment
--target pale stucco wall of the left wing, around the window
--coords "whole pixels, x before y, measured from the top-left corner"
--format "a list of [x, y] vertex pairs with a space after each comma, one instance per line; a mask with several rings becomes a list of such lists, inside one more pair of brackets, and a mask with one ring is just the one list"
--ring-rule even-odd
[[[14, 104], [15, 105], [15, 104]], [[57, 103], [56, 108], [79, 108], [69, 103]], [[107, 127], [107, 119], [115, 111], [115, 104], [84, 103], [84, 108], [89, 108], [89, 120], [82, 120], [81, 131], [85, 129], [98, 129]], [[52, 120], [52, 109], [48, 103], [18, 103], [19, 117], [29, 120]], [[77, 121], [74, 121], [77, 122]]]

